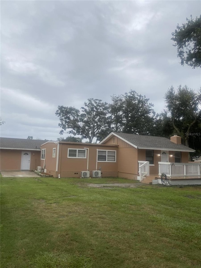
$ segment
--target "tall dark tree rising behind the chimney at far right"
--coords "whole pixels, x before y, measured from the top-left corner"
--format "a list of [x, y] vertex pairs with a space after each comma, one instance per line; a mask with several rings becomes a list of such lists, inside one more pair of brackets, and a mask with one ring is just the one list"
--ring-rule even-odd
[[[189, 146], [189, 138], [201, 120], [201, 90], [197, 93], [185, 86], [177, 91], [171, 86], [165, 94], [165, 102], [174, 130], [182, 137], [183, 144]], [[201, 133], [201, 129], [199, 130]]]

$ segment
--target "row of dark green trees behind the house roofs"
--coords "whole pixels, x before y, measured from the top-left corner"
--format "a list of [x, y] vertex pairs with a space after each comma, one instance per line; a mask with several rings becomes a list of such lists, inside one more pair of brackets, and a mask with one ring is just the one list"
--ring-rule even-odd
[[111, 103], [88, 99], [80, 110], [58, 106], [55, 114], [60, 121], [61, 135], [69, 133], [81, 137], [70, 136], [68, 141], [98, 142], [111, 132], [166, 138], [177, 133], [182, 137], [182, 144], [201, 153], [201, 90], [195, 92], [186, 85], [175, 90], [171, 86], [164, 99], [166, 109], [160, 114], [154, 111], [149, 99], [135, 90], [112, 95]]

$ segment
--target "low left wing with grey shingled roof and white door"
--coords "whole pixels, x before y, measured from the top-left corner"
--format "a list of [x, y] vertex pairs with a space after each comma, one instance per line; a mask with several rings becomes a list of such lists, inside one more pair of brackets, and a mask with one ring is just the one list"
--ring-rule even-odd
[[33, 170], [40, 166], [39, 139], [0, 138], [0, 170]]

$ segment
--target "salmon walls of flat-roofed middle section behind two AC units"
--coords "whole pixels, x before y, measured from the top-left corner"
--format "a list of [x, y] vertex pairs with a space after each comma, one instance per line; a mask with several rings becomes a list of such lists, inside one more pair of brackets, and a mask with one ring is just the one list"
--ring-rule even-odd
[[[56, 148], [56, 157], [52, 157], [52, 150]], [[84, 149], [84, 148], [89, 148]], [[88, 171], [90, 171], [90, 177], [92, 177], [92, 171], [96, 170], [96, 157], [97, 149], [99, 150], [113, 150], [116, 151], [116, 162], [98, 161], [97, 170], [101, 170], [102, 177], [117, 177], [117, 146], [107, 145], [95, 145], [95, 144], [84, 144], [84, 143], [59, 143], [59, 154], [58, 154], [58, 171], [56, 170], [57, 165], [57, 144], [46, 143], [41, 146], [41, 149], [46, 149], [46, 159], [41, 160], [41, 167], [46, 168], [46, 172], [52, 174], [54, 177], [60, 178], [80, 178], [81, 171], [87, 171], [87, 156], [89, 152]], [[68, 149], [80, 149], [86, 150], [86, 158], [68, 158]], [[45, 161], [45, 162], [44, 162]]]

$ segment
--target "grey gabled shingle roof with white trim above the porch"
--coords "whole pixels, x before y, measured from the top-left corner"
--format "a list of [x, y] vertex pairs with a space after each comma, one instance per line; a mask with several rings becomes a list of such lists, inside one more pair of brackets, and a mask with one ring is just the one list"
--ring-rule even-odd
[[104, 144], [108, 139], [111, 139], [112, 135], [119, 137], [120, 139], [124, 140], [128, 144], [138, 149], [172, 150], [185, 152], [195, 151], [185, 145], [173, 143], [172, 141], [170, 141], [170, 139], [164, 137], [136, 135], [119, 132], [112, 132], [104, 140], [102, 140], [100, 144]]

